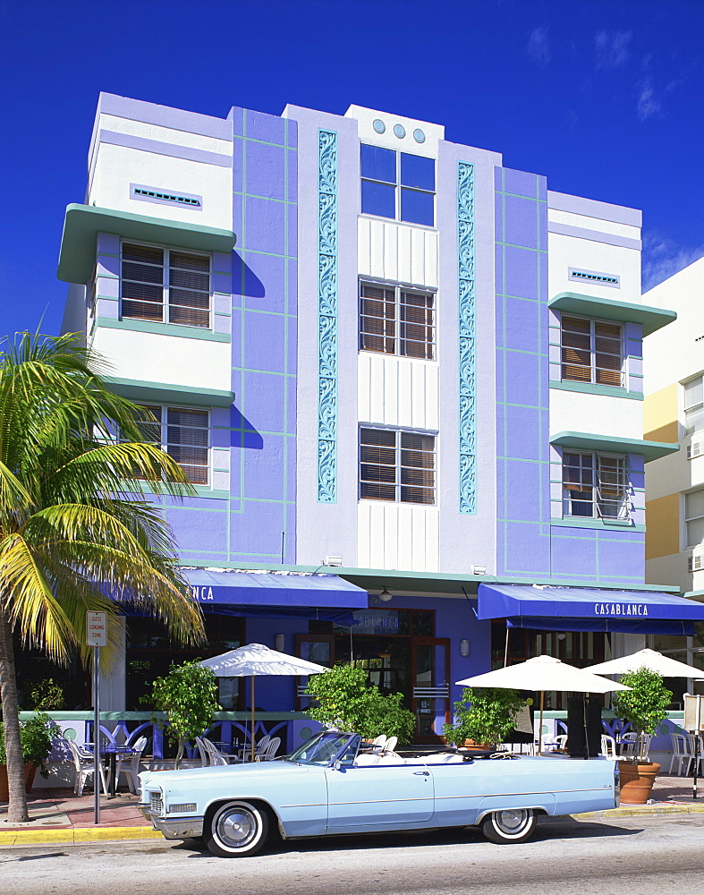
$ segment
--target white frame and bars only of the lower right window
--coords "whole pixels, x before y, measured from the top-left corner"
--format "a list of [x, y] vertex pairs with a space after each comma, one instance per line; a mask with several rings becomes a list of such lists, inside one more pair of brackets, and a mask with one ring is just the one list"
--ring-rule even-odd
[[[568, 456], [589, 458], [590, 466], [568, 466], [565, 462]], [[613, 471], [608, 469], [608, 465], [615, 466], [615, 477], [617, 480], [621, 480], [617, 482], [617, 487], [620, 487], [622, 490], [620, 501], [606, 496], [609, 493], [608, 485], [612, 483], [605, 482], [604, 477], [606, 473], [613, 474]], [[580, 481], [568, 480], [567, 471], [578, 468], [590, 473], [591, 482], [585, 481], [588, 476], [581, 477]], [[632, 515], [629, 473], [628, 456], [624, 454], [601, 454], [596, 451], [564, 450], [562, 456], [563, 517], [566, 519], [600, 519], [606, 520], [606, 522], [630, 522]], [[574, 487], [579, 484], [584, 486], [582, 490], [579, 487]], [[577, 492], [585, 495], [590, 494], [590, 497], [585, 497], [584, 499], [576, 498], [574, 495]], [[577, 503], [585, 508], [590, 506], [591, 513], [573, 513], [573, 503]], [[615, 514], [604, 512], [606, 507], [615, 507]]]

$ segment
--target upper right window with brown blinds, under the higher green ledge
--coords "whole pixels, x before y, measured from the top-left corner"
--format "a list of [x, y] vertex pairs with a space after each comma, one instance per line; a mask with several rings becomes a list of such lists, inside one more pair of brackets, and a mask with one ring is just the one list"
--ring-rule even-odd
[[563, 314], [562, 378], [622, 388], [622, 328], [616, 323]]

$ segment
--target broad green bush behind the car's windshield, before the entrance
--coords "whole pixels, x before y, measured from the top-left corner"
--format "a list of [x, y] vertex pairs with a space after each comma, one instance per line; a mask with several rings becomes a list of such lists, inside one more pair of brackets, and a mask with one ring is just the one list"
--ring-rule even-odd
[[305, 694], [316, 701], [307, 713], [321, 724], [366, 739], [386, 734], [397, 737], [399, 743], [411, 742], [416, 719], [403, 707], [403, 695], [382, 694], [369, 684], [365, 669], [337, 665], [326, 674], [311, 676]]

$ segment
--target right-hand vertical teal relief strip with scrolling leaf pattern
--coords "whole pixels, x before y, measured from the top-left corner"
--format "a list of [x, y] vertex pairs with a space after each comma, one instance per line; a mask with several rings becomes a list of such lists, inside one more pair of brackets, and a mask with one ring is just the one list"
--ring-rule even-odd
[[457, 294], [460, 349], [460, 512], [477, 512], [477, 381], [474, 166], [457, 164]]

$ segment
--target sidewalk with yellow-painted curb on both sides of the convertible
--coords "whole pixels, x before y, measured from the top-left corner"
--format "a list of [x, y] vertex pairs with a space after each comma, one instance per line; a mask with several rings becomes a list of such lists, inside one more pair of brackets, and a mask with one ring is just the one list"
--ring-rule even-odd
[[[699, 798], [692, 798], [692, 781], [687, 777], [661, 774], [653, 789], [652, 805], [623, 805], [612, 811], [574, 814], [576, 820], [615, 820], [618, 817], [664, 817], [704, 814], [704, 780]], [[33, 789], [29, 800], [30, 822], [10, 825], [5, 820], [7, 804], [0, 803], [0, 847], [41, 845], [49, 842], [97, 840], [163, 840], [152, 830], [137, 808], [139, 797], [120, 793], [115, 798], [100, 797], [100, 823], [93, 823], [93, 793], [74, 796], [71, 789]]]

